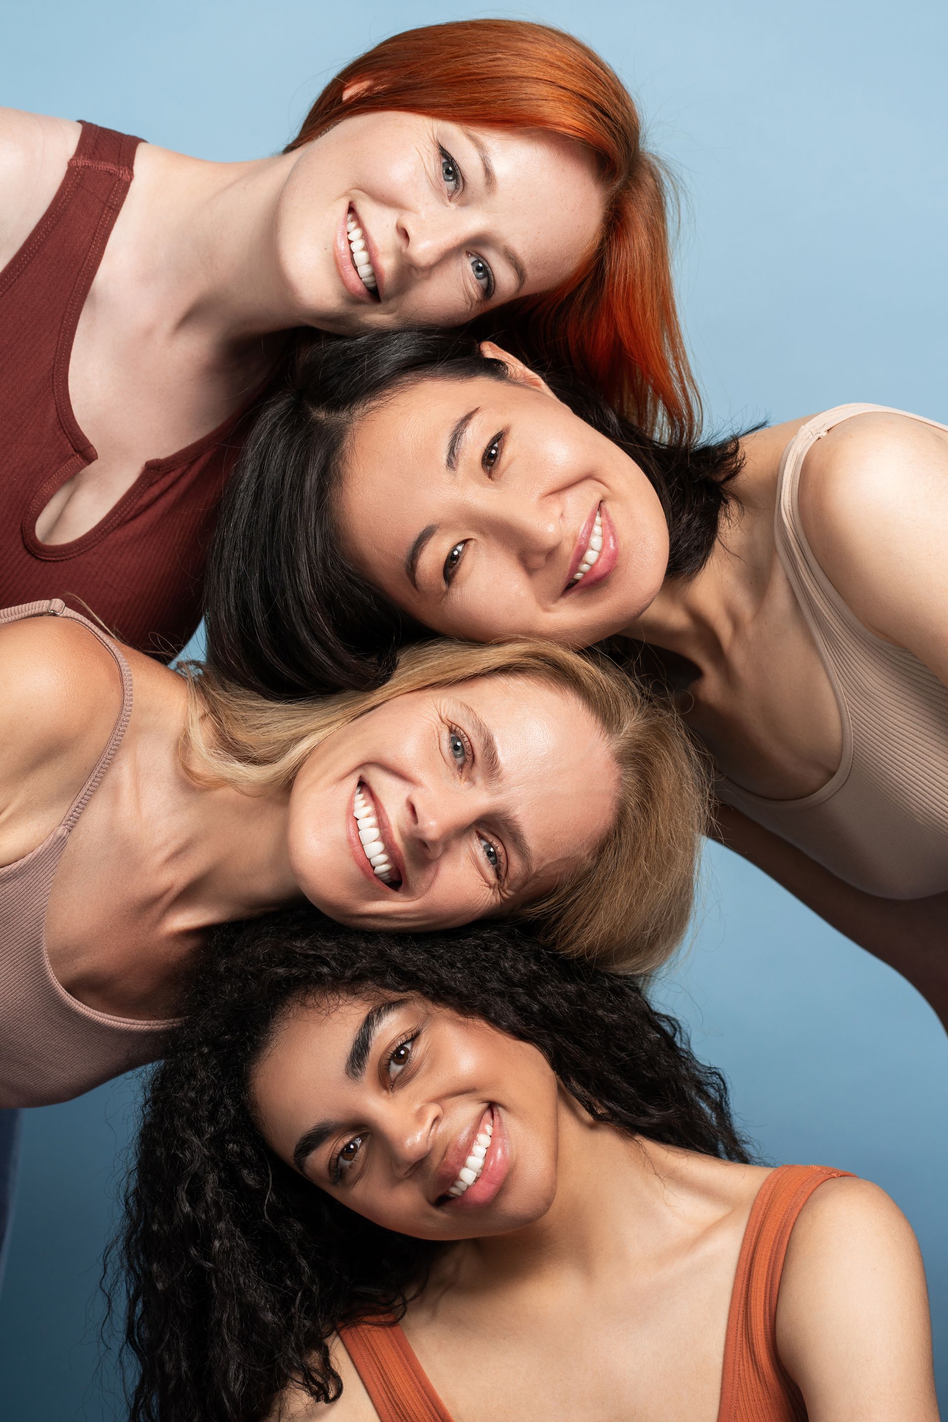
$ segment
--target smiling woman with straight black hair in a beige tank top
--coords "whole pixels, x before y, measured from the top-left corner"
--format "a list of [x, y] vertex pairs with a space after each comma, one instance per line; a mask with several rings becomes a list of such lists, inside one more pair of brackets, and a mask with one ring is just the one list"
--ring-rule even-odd
[[424, 629], [623, 637], [712, 752], [725, 842], [948, 1021], [947, 542], [935, 421], [846, 405], [662, 445], [497, 347], [362, 337], [262, 417], [210, 653], [291, 695]]

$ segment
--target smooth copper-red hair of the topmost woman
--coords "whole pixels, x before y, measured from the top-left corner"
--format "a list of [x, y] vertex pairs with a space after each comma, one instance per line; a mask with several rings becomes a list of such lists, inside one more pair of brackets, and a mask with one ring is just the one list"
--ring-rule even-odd
[[[344, 101], [348, 85], [360, 88]], [[608, 64], [573, 36], [522, 20], [405, 30], [337, 74], [287, 152], [379, 109], [533, 128], [587, 149], [605, 191], [596, 249], [557, 290], [520, 297], [478, 330], [527, 363], [569, 364], [648, 434], [694, 438], [701, 405], [675, 310], [668, 183]]]

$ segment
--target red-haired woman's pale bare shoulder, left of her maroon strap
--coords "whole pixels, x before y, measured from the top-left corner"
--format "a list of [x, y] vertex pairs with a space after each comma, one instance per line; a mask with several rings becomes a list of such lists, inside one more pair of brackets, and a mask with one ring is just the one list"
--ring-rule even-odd
[[72, 119], [0, 108], [0, 267], [53, 202], [78, 139]]

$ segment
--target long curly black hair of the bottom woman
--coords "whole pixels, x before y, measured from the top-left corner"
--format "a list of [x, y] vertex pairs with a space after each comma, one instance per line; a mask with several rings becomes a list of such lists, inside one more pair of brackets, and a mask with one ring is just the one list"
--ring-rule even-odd
[[[287, 1385], [340, 1395], [327, 1340], [401, 1315], [436, 1249], [307, 1183], [259, 1135], [249, 1076], [294, 1001], [416, 994], [537, 1047], [597, 1119], [748, 1160], [718, 1071], [640, 984], [544, 951], [503, 924], [399, 936], [314, 910], [216, 931], [142, 1106], [125, 1224], [107, 1270], [125, 1291], [131, 1422], [257, 1422]], [[131, 1357], [129, 1357], [131, 1354]]]

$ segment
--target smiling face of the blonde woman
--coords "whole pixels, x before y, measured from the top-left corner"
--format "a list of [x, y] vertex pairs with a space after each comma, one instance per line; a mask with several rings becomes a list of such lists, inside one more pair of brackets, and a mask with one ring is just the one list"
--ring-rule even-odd
[[446, 929], [530, 903], [596, 850], [617, 768], [593, 715], [524, 677], [406, 693], [331, 735], [290, 795], [290, 866], [340, 923]]

